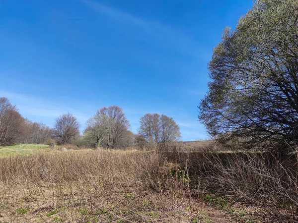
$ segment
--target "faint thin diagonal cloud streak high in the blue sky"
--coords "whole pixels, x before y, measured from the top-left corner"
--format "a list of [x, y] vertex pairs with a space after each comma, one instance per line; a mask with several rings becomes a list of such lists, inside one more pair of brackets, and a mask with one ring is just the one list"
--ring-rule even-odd
[[125, 11], [117, 8], [112, 8], [103, 5], [94, 0], [79, 0], [86, 6], [90, 7], [97, 13], [104, 14], [121, 23], [134, 25], [140, 30], [143, 30], [148, 35], [159, 39], [163, 46], [170, 45], [172, 50], [193, 56], [197, 59], [208, 60], [210, 57], [210, 50], [205, 49], [199, 42], [187, 37], [181, 31], [175, 30], [172, 27], [166, 26], [160, 22], [152, 22], [145, 19], [138, 18]]

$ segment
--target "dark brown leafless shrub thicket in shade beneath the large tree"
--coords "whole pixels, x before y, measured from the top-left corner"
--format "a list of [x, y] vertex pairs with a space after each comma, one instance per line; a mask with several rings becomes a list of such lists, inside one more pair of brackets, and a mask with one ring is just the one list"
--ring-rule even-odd
[[189, 152], [174, 157], [169, 160], [187, 162], [190, 177], [198, 179], [191, 185], [196, 193], [228, 196], [262, 207], [272, 219], [298, 222], [296, 154], [283, 159], [270, 152]]

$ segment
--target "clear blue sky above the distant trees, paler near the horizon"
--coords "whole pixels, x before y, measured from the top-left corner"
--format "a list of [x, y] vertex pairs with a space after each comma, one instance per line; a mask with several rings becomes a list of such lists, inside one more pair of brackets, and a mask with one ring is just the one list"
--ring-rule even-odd
[[208, 138], [197, 105], [207, 64], [252, 0], [0, 0], [0, 97], [53, 126], [70, 111], [84, 128], [122, 107], [137, 132], [148, 112], [173, 117], [182, 140]]

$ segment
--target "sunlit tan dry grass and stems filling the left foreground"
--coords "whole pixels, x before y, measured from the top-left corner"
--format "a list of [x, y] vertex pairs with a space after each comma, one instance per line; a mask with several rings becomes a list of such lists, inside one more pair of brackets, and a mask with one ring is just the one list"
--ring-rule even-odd
[[185, 169], [160, 153], [11, 156], [0, 158], [0, 222], [182, 222], [187, 188]]

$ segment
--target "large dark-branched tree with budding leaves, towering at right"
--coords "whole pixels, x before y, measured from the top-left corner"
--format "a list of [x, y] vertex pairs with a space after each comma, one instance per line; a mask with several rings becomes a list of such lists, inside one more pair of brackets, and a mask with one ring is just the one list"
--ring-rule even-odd
[[212, 136], [298, 143], [297, 8], [297, 0], [258, 0], [234, 31], [224, 30], [199, 105]]

